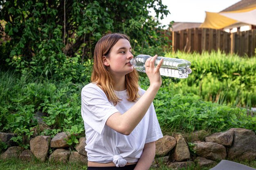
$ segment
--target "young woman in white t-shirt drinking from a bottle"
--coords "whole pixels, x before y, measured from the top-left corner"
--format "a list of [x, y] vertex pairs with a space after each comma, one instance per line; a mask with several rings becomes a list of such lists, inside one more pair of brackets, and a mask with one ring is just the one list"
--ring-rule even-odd
[[148, 170], [155, 141], [163, 137], [153, 99], [162, 80], [154, 62], [146, 61], [149, 88], [139, 88], [127, 35], [103, 36], [94, 50], [92, 83], [81, 92], [88, 170]]

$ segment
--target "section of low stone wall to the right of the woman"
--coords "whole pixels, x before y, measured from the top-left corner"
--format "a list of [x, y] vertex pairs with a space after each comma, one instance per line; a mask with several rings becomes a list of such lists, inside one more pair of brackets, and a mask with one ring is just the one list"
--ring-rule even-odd
[[156, 142], [156, 157], [156, 162], [173, 169], [195, 163], [210, 166], [222, 159], [254, 160], [256, 135], [252, 130], [231, 128], [211, 135], [200, 130], [184, 137], [180, 134], [164, 136]]

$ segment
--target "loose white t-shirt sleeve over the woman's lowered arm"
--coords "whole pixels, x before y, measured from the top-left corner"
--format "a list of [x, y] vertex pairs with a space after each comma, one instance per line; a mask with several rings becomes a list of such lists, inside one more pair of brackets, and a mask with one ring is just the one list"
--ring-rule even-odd
[[157, 120], [157, 115], [155, 113], [155, 108], [153, 103], [149, 107], [150, 115], [149, 115], [149, 122], [148, 122], [148, 132], [146, 135], [145, 144], [157, 141], [158, 139], [163, 137], [161, 128], [159, 126], [159, 122]]

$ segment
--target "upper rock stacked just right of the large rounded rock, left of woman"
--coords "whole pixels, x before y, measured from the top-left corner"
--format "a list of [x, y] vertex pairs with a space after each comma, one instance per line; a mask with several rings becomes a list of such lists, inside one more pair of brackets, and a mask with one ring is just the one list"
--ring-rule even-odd
[[67, 141], [70, 135], [67, 132], [61, 132], [56, 134], [51, 141], [51, 148], [65, 148], [68, 147]]

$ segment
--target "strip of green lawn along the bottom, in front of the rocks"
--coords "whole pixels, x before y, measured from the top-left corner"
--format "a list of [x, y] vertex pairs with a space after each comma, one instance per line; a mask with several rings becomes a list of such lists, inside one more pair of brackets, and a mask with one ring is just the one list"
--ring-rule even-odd
[[[256, 168], [256, 160], [236, 162]], [[208, 167], [199, 167], [198, 165], [195, 165], [193, 167], [182, 168], [180, 170], [209, 170], [217, 164], [218, 162]], [[0, 170], [87, 170], [87, 165], [79, 163], [52, 163], [49, 161], [42, 163], [37, 160], [28, 162], [20, 159], [0, 159]], [[159, 168], [150, 168], [150, 170], [170, 170], [170, 168], [162, 163]]]

